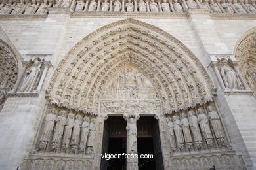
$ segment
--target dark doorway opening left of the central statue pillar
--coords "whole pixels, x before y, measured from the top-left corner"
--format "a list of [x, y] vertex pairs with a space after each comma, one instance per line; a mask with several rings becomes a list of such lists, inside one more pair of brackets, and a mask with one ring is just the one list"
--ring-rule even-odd
[[[104, 122], [102, 154], [123, 154], [126, 152], [126, 122], [121, 116], [110, 116]], [[100, 170], [125, 170], [126, 160], [101, 159]]]

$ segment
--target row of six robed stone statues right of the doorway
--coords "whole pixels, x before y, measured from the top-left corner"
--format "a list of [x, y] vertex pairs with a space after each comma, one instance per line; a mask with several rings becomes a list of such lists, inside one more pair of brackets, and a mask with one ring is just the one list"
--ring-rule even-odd
[[185, 148], [200, 150], [203, 148], [203, 143], [207, 148], [211, 148], [215, 139], [219, 146], [225, 144], [221, 120], [211, 106], [207, 107], [207, 114], [203, 109], [198, 109], [197, 113], [190, 110], [187, 113], [174, 115], [172, 118], [169, 116], [167, 127], [173, 152], [178, 150], [182, 152]]

